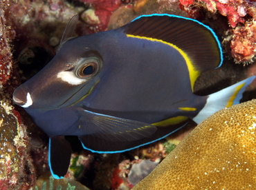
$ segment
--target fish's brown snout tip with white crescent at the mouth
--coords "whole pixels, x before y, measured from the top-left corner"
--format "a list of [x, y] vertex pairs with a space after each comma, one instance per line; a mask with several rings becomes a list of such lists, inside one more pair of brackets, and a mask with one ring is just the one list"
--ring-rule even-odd
[[12, 95], [12, 100], [15, 104], [21, 107], [30, 107], [30, 105], [33, 105], [30, 93], [26, 92], [26, 89], [24, 89], [22, 85], [15, 89], [15, 92], [13, 92]]

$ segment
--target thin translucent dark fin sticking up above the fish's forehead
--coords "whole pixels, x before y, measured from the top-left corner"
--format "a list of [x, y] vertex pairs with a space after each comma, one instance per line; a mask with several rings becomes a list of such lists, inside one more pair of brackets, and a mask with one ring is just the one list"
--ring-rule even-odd
[[60, 47], [62, 47], [62, 45], [68, 40], [68, 39], [71, 39], [73, 36], [73, 32], [75, 30], [75, 27], [77, 25], [77, 21], [78, 21], [78, 14], [75, 14], [71, 20], [68, 22], [68, 24], [66, 25], [66, 28], [63, 32], [63, 35], [62, 35], [62, 39], [60, 41], [60, 45], [57, 49], [57, 51], [60, 50]]

